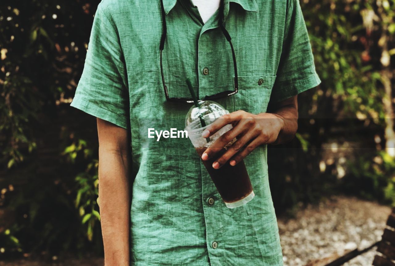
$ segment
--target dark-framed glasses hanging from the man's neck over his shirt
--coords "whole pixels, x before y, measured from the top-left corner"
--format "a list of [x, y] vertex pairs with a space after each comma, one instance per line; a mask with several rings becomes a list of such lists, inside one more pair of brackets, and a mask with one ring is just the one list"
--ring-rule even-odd
[[[162, 11], [162, 21], [163, 21], [163, 31], [162, 31], [162, 37], [160, 39], [160, 45], [159, 45], [159, 50], [160, 50], [160, 73], [162, 75], [162, 83], [163, 83], [163, 89], [165, 91], [165, 96], [166, 96], [166, 101], [171, 101], [171, 102], [182, 102], [182, 103], [193, 103], [194, 100], [192, 98], [183, 98], [183, 97], [169, 97], [169, 92], [167, 91], [167, 86], [165, 82], [165, 78], [163, 75], [163, 65], [162, 65], [162, 51], [165, 46], [165, 41], [166, 41], [166, 34], [167, 34], [167, 27], [166, 27], [166, 13], [165, 9], [163, 6], [163, 0], [160, 0], [160, 5], [161, 5], [161, 11]], [[232, 50], [232, 57], [233, 57], [233, 68], [235, 70], [235, 80], [234, 80], [234, 88], [233, 90], [226, 90], [224, 92], [220, 92], [217, 94], [213, 94], [211, 96], [206, 96], [204, 99], [198, 99], [198, 101], [205, 101], [205, 100], [215, 100], [215, 99], [221, 99], [225, 98], [228, 96], [231, 96], [233, 94], [236, 94], [239, 91], [239, 82], [238, 82], [238, 77], [237, 77], [237, 65], [236, 65], [236, 56], [235, 56], [235, 50], [233, 49], [233, 45], [231, 42], [231, 37], [226, 30], [224, 26], [224, 0], [221, 0], [220, 8], [220, 21], [219, 25], [222, 30], [222, 33], [224, 34], [226, 40], [229, 42], [230, 48]]]

